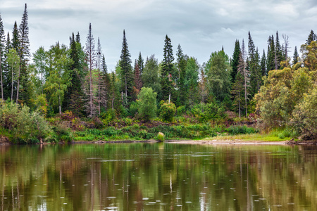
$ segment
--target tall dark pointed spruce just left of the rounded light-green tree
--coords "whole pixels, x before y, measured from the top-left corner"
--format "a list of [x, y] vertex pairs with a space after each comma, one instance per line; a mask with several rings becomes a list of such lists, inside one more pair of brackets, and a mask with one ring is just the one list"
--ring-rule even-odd
[[130, 101], [132, 101], [133, 95], [133, 72], [132, 72], [132, 61], [130, 58], [130, 52], [128, 49], [127, 39], [125, 37], [125, 30], [123, 30], [123, 42], [122, 42], [122, 50], [120, 56], [120, 79], [123, 82], [123, 86], [121, 87], [121, 92], [124, 93], [123, 105], [125, 108], [128, 107]]

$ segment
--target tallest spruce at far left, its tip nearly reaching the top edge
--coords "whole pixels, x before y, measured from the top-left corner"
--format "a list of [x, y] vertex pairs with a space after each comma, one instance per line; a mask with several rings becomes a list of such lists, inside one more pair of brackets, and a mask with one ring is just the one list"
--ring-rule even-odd
[[19, 102], [19, 93], [20, 93], [20, 82], [22, 85], [21, 90], [21, 100], [27, 101], [27, 61], [30, 57], [30, 41], [29, 41], [29, 27], [27, 23], [27, 4], [25, 4], [25, 9], [22, 16], [22, 21], [19, 27], [19, 36], [20, 36], [20, 45], [19, 45], [19, 56], [20, 56], [20, 68], [18, 72], [18, 84], [17, 84], [17, 96], [16, 103]]

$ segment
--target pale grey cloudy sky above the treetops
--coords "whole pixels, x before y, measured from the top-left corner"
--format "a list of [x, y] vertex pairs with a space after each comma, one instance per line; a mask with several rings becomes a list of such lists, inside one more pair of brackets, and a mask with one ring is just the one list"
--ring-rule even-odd
[[[108, 70], [120, 58], [123, 30], [132, 60], [141, 51], [161, 61], [166, 34], [174, 55], [178, 44], [199, 63], [223, 46], [232, 56], [235, 39], [247, 41], [248, 32], [260, 53], [267, 49], [268, 36], [278, 31], [290, 38], [290, 51], [299, 49], [311, 30], [316, 31], [316, 0], [0, 0], [4, 30], [18, 25], [25, 3], [29, 17], [30, 49], [69, 44], [72, 32], [80, 32], [85, 44], [89, 23], [95, 40], [101, 41]], [[291, 52], [292, 56], [292, 52]]]

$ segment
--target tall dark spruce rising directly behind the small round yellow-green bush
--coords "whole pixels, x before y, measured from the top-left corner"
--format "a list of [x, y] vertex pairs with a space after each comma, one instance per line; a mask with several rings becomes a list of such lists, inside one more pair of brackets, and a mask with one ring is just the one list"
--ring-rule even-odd
[[161, 100], [169, 100], [170, 97], [175, 98], [173, 95], [175, 87], [175, 70], [173, 65], [173, 46], [170, 38], [166, 35], [165, 44], [163, 49], [163, 63], [161, 70]]

